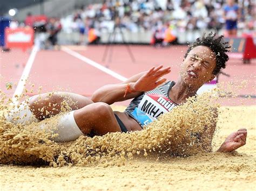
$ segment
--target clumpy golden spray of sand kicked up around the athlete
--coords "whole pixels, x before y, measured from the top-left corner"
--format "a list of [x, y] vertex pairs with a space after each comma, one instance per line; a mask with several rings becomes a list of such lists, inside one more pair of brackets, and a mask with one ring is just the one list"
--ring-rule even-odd
[[126, 159], [144, 157], [166, 158], [171, 155], [187, 156], [204, 152], [207, 137], [202, 138], [205, 127], [216, 122], [208, 96], [190, 98], [174, 108], [144, 131], [108, 133], [93, 138], [81, 136], [70, 143], [57, 144], [50, 133], [40, 126], [56, 126], [58, 116], [40, 123], [14, 125], [0, 121], [1, 164], [47, 164], [50, 166], [122, 165]]

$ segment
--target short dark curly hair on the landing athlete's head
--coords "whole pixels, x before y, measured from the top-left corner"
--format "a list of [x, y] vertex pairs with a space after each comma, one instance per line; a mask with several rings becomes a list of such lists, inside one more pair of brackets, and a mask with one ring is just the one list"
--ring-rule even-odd
[[220, 72], [221, 68], [226, 67], [226, 61], [228, 61], [228, 55], [226, 52], [230, 52], [230, 45], [228, 42], [224, 42], [224, 36], [216, 37], [216, 33], [209, 33], [206, 37], [205, 34], [202, 38], [198, 38], [194, 43], [190, 44], [184, 58], [187, 57], [187, 54], [196, 46], [207, 46], [216, 56], [216, 67], [213, 70], [213, 74], [216, 75]]

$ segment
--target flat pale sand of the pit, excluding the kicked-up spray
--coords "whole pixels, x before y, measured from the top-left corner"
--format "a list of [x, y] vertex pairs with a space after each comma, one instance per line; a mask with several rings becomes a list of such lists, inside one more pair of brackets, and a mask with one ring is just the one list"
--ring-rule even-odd
[[[115, 107], [114, 110], [123, 110]], [[125, 165], [0, 165], [1, 190], [253, 190], [256, 180], [255, 106], [221, 107], [213, 150], [231, 132], [247, 128], [247, 144], [233, 153], [190, 157], [135, 157]], [[45, 151], [46, 152], [46, 151]]]

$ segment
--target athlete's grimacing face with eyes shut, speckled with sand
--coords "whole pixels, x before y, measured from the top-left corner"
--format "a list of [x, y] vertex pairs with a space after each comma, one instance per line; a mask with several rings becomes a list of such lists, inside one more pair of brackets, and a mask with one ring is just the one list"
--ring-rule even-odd
[[181, 79], [192, 87], [201, 87], [214, 79], [213, 70], [216, 67], [216, 56], [207, 46], [194, 47], [183, 60]]

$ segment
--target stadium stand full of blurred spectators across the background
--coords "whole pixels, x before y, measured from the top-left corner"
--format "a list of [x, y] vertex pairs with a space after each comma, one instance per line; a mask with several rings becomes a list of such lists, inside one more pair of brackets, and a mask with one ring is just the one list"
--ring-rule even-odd
[[[24, 1], [28, 2], [28, 1]], [[23, 22], [26, 14], [40, 15], [42, 4], [26, 4], [19, 9], [14, 21]], [[132, 44], [186, 44], [194, 41], [204, 32], [225, 33], [224, 0], [55, 0], [43, 1], [44, 15], [55, 17], [62, 25], [58, 32], [59, 44], [86, 44], [93, 27], [100, 43], [109, 43], [116, 18], [120, 18], [113, 43], [125, 41]], [[25, 3], [24, 3], [25, 4]], [[59, 6], [62, 4], [62, 6]], [[238, 36], [251, 33], [255, 36], [255, 2], [238, 0], [241, 17], [238, 22]], [[18, 5], [17, 5], [18, 6]], [[42, 10], [42, 9], [41, 9]], [[245, 17], [246, 16], [246, 17]], [[19, 24], [22, 25], [22, 24]], [[122, 30], [122, 33], [120, 33]], [[97, 34], [96, 34], [97, 33]], [[254, 37], [255, 39], [255, 37]]]

